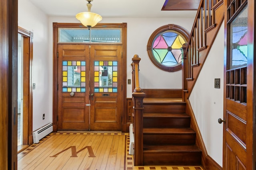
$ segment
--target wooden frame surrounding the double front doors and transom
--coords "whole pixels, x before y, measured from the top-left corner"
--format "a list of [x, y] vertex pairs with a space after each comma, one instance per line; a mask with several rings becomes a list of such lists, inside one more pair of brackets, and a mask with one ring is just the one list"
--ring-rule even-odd
[[[81, 23], [53, 23], [53, 111], [52, 111], [52, 125], [53, 131], [58, 130], [58, 28], [86, 28]], [[126, 99], [126, 41], [127, 41], [127, 23], [98, 23], [94, 28], [122, 28], [122, 117], [125, 117], [125, 99]], [[88, 43], [86, 43], [88, 44]], [[96, 43], [94, 43], [96, 44]], [[99, 43], [97, 43], [99, 44]], [[127, 125], [125, 119], [122, 119], [122, 131], [126, 131]]]

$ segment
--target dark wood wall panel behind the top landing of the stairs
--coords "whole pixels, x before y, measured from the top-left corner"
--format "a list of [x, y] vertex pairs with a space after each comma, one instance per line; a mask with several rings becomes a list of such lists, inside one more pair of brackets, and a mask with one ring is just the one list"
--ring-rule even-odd
[[145, 98], [182, 98], [182, 89], [143, 89]]

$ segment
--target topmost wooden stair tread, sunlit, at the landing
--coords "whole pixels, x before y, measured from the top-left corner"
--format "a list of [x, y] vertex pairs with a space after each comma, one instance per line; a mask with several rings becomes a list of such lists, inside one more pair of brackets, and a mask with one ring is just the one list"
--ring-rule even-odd
[[143, 104], [186, 104], [182, 98], [144, 98]]

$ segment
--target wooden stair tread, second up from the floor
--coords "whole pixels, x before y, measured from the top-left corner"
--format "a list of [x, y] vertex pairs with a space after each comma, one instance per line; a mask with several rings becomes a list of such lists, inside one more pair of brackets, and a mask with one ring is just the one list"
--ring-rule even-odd
[[194, 134], [191, 128], [143, 128], [145, 134]]

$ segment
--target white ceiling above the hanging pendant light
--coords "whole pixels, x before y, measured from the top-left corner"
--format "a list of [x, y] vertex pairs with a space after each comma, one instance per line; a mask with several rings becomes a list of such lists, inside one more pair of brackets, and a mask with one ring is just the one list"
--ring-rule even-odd
[[[87, 12], [86, 0], [30, 0], [48, 16], [73, 17]], [[191, 17], [196, 11], [161, 11], [165, 0], [93, 0], [91, 12], [102, 18]]]

